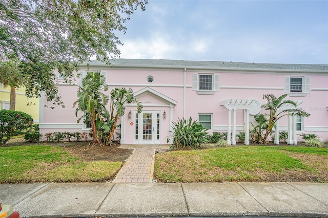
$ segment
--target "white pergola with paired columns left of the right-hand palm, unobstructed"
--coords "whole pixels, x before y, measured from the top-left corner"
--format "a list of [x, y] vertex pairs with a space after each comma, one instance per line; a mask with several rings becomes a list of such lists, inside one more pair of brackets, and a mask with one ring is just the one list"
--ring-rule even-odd
[[[227, 99], [220, 101], [220, 105], [228, 109], [228, 144], [236, 144], [237, 110], [244, 110], [245, 145], [250, 144], [250, 114], [256, 115], [261, 111], [261, 104], [255, 99]], [[232, 141], [231, 141], [231, 113], [233, 111]]]

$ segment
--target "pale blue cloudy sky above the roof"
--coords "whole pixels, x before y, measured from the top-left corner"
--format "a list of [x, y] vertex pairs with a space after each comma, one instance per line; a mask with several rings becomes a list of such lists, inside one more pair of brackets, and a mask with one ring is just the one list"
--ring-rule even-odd
[[121, 58], [328, 64], [328, 1], [158, 1], [117, 34]]

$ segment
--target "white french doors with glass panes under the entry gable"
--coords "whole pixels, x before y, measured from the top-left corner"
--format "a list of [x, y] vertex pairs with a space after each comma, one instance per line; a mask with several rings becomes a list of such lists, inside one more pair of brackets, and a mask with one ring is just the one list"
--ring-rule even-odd
[[143, 111], [135, 114], [135, 140], [139, 144], [159, 144], [160, 113]]

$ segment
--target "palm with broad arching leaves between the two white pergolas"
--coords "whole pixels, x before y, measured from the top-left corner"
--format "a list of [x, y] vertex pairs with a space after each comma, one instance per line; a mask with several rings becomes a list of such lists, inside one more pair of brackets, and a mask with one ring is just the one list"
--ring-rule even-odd
[[[263, 95], [263, 99], [267, 100], [267, 103], [263, 104], [262, 107], [265, 110], [270, 110], [269, 122], [265, 135], [263, 137], [263, 142], [267, 141], [268, 136], [271, 134], [272, 128], [275, 126], [277, 120], [286, 115], [299, 115], [302, 117], [309, 117], [310, 114], [306, 113], [302, 108], [296, 108], [297, 104], [292, 100], [283, 100], [287, 94], [284, 94], [278, 98], [273, 94]], [[294, 109], [281, 110], [279, 109], [286, 104], [292, 104], [295, 106]]]

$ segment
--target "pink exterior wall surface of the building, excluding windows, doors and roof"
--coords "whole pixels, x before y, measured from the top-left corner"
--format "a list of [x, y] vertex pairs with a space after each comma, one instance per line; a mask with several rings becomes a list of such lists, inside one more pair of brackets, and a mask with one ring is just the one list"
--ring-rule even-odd
[[[85, 70], [85, 69], [82, 69]], [[110, 90], [120, 86], [132, 88], [134, 92], [149, 87], [150, 89], [166, 96], [177, 102], [173, 107], [173, 117], [171, 117], [170, 107], [160, 106], [168, 104], [168, 102], [160, 97], [154, 97], [146, 94], [139, 98], [144, 105], [144, 111], [158, 111], [160, 113], [160, 143], [167, 143], [167, 136], [170, 135], [170, 121], [177, 121], [178, 118], [193, 120], [198, 119], [198, 114], [212, 114], [213, 128], [209, 132], [227, 132], [228, 110], [220, 105], [220, 101], [226, 99], [256, 99], [261, 104], [263, 94], [274, 94], [280, 96], [285, 94], [284, 79], [285, 76], [302, 76], [311, 77], [311, 92], [305, 96], [292, 97], [286, 99], [301, 100], [300, 105], [306, 112], [310, 113], [309, 118], [304, 118], [304, 131], [298, 131], [297, 134], [311, 133], [317, 134], [323, 141], [328, 141], [328, 73], [298, 73], [298, 72], [252, 72], [248, 71], [228, 71], [228, 70], [189, 70], [186, 69], [155, 69], [155, 68], [116, 68], [116, 67], [90, 67], [90, 70], [101, 70], [106, 72], [106, 79], [110, 85]], [[193, 91], [193, 74], [218, 74], [219, 75], [219, 91], [213, 95], [200, 95]], [[154, 78], [152, 83], [147, 82], [147, 76]], [[185, 88], [184, 88], [185, 87]], [[43, 116], [40, 122], [41, 133], [58, 132], [61, 129], [68, 129], [71, 132], [88, 131], [83, 128], [83, 124], [77, 124], [75, 117], [75, 108], [72, 107], [76, 100], [76, 85], [58, 85], [62, 99], [66, 105], [65, 108], [56, 106], [54, 110], [50, 107], [44, 107], [40, 111]], [[184, 92], [185, 90], [185, 92]], [[110, 91], [107, 92], [109, 95]], [[185, 97], [184, 97], [185, 96]], [[151, 100], [151, 102], [147, 102]], [[40, 104], [47, 104], [42, 98]], [[146, 101], [146, 102], [145, 102]], [[184, 102], [186, 103], [184, 105]], [[155, 106], [154, 106], [155, 105]], [[128, 119], [128, 113], [131, 110], [132, 118]], [[135, 143], [135, 115], [136, 106], [127, 105], [126, 115], [121, 118], [123, 123], [122, 135], [123, 142], [126, 144]], [[185, 110], [185, 111], [184, 111]], [[166, 111], [167, 118], [163, 119], [163, 112]], [[265, 111], [262, 110], [264, 113]], [[133, 125], [130, 123], [133, 122]], [[237, 130], [242, 131], [243, 111], [237, 111]], [[57, 124], [57, 125], [53, 125]], [[60, 124], [60, 125], [59, 125]], [[57, 127], [56, 127], [57, 126]], [[65, 127], [66, 126], [66, 127]], [[279, 120], [281, 130], [286, 130], [287, 118]], [[65, 127], [65, 128], [64, 128]], [[300, 137], [298, 140], [301, 141]]]

